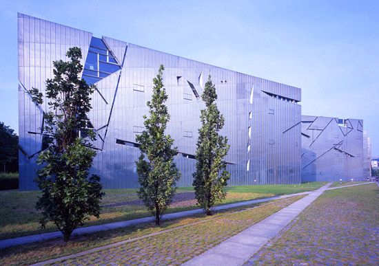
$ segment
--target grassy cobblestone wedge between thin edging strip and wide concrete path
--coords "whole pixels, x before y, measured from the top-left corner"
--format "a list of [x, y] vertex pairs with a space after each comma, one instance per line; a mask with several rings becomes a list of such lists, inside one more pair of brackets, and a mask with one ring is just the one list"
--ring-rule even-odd
[[238, 212], [54, 265], [181, 265], [299, 199]]

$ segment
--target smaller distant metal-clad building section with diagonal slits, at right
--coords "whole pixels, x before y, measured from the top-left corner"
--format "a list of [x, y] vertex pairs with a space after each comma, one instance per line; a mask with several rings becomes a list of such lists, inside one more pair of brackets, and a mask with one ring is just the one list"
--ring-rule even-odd
[[367, 180], [362, 120], [302, 115], [301, 135], [302, 181]]

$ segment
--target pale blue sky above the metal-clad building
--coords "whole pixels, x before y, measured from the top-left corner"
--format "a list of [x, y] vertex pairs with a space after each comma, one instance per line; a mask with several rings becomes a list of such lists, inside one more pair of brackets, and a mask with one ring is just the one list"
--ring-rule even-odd
[[379, 1], [0, 0], [0, 121], [18, 132], [17, 12], [302, 89], [379, 156]]

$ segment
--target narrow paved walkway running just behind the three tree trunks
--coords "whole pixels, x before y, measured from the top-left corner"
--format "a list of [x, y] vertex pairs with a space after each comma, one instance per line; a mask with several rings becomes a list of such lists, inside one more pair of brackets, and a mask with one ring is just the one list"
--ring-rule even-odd
[[[362, 184], [367, 184], [367, 183], [362, 183]], [[362, 184], [354, 184], [354, 185], [349, 185], [349, 186], [359, 186]], [[336, 187], [336, 188], [344, 188], [344, 187], [347, 187], [347, 186], [340, 186], [340, 187]], [[336, 188], [329, 188], [329, 189], [336, 189]], [[311, 192], [300, 192], [300, 193], [295, 193], [295, 194], [290, 194], [290, 195], [282, 195], [282, 196], [278, 196], [278, 197], [269, 197], [266, 199], [256, 199], [256, 200], [252, 200], [252, 201], [243, 201], [243, 202], [239, 202], [239, 203], [232, 203], [232, 204], [227, 204], [227, 205], [223, 205], [223, 206], [218, 206], [218, 207], [216, 207], [216, 210], [225, 210], [225, 209], [229, 209], [229, 208], [235, 208], [238, 206], [246, 206], [246, 205], [250, 205], [250, 204], [254, 204], [254, 203], [273, 201], [275, 199], [285, 199], [288, 197], [294, 197], [294, 196], [298, 196], [298, 195], [309, 195], [309, 193], [311, 193]], [[175, 213], [171, 213], [171, 214], [165, 214], [165, 216], [163, 217], [162, 220], [164, 221], [164, 220], [168, 220], [168, 219], [177, 219], [177, 218], [187, 217], [187, 216], [194, 215], [194, 214], [200, 214], [202, 212], [203, 212], [203, 210], [201, 210], [201, 209], [187, 210], [185, 212], [175, 212]], [[153, 221], [152, 217], [145, 217], [145, 218], [134, 219], [134, 220], [129, 220], [129, 221], [120, 221], [120, 222], [116, 222], [116, 223], [106, 223], [103, 225], [88, 226], [85, 228], [77, 228], [76, 230], [74, 230], [72, 235], [77, 236], [77, 235], [81, 235], [81, 234], [90, 234], [93, 232], [111, 230], [111, 229], [115, 229], [115, 228], [125, 228], [125, 227], [130, 226], [130, 225], [136, 225], [136, 224], [140, 224], [140, 223], [149, 223], [151, 221]], [[21, 237], [17, 237], [14, 239], [3, 239], [3, 240], [0, 240], [0, 248], [10, 247], [13, 245], [23, 245], [23, 244], [33, 243], [33, 242], [37, 242], [37, 241], [45, 241], [48, 239], [58, 239], [61, 237], [62, 237], [61, 232], [50, 232], [50, 233], [44, 233], [44, 234], [35, 234], [32, 236], [21, 236]]]

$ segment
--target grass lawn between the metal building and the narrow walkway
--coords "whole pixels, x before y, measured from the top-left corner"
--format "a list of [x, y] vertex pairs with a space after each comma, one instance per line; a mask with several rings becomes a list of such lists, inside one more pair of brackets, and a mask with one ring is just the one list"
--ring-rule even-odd
[[[316, 190], [323, 186], [323, 182], [311, 182], [310, 184], [294, 185], [265, 185], [265, 186], [231, 186], [225, 188], [227, 199], [221, 204], [236, 203], [252, 199], [263, 199], [278, 195], [288, 195], [296, 192]], [[178, 192], [193, 191], [193, 188], [178, 188]], [[105, 197], [101, 205], [121, 203], [139, 199], [136, 189], [104, 190]], [[0, 191], [0, 239], [10, 239], [17, 236], [41, 234], [57, 231], [52, 223], [46, 225], [46, 229], [39, 228], [40, 212], [34, 206], [40, 195], [39, 191]], [[193, 210], [197, 206], [169, 208], [167, 213]], [[150, 212], [144, 206], [118, 206], [103, 207], [100, 219], [90, 217], [84, 226], [113, 223], [149, 217]]]

